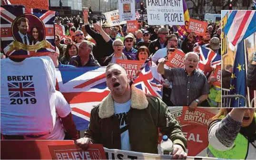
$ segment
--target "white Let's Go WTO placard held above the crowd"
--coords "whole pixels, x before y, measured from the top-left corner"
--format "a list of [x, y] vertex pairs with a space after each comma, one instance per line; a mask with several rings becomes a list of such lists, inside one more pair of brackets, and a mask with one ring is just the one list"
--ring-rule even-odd
[[121, 21], [119, 19], [119, 11], [118, 10], [112, 10], [110, 12], [106, 12], [105, 16], [106, 16], [107, 22], [110, 25], [110, 27], [118, 26], [121, 24], [126, 24], [126, 21]]

